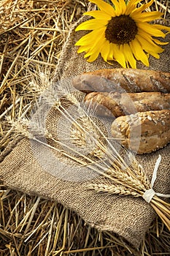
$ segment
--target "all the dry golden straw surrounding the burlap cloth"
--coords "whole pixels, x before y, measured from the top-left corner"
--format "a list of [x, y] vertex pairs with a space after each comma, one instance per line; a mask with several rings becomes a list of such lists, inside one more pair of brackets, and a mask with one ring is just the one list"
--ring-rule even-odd
[[[169, 23], [168, 1], [155, 1]], [[0, 1], [0, 149], [15, 134], [6, 117], [28, 116], [38, 94], [31, 81], [53, 77], [72, 24], [85, 0]], [[43, 73], [44, 72], [44, 73]], [[0, 255], [168, 255], [170, 235], [155, 219], [139, 251], [116, 234], [99, 233], [58, 203], [0, 188]]]

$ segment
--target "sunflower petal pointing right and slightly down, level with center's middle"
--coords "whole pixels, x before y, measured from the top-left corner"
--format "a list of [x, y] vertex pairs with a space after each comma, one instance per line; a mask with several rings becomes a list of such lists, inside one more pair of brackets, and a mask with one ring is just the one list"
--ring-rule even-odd
[[154, 37], [165, 37], [166, 36], [160, 29], [157, 29], [152, 24], [148, 24], [148, 23], [136, 23], [136, 24], [139, 29], [142, 29], [144, 32], [147, 32], [148, 34], [150, 34]]

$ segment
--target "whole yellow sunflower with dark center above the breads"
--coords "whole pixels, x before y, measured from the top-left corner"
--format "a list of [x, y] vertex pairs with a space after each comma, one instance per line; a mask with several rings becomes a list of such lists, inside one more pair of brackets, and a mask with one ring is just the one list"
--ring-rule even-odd
[[[169, 27], [151, 24], [163, 13], [158, 11], [144, 12], [154, 0], [139, 4], [141, 0], [112, 0], [112, 5], [102, 0], [91, 0], [99, 10], [85, 12], [93, 18], [77, 26], [76, 31], [90, 30], [75, 45], [80, 48], [77, 53], [85, 52], [89, 62], [95, 61], [101, 53], [104, 61], [117, 61], [122, 67], [136, 68], [136, 60], [149, 66], [149, 56], [159, 59], [159, 53], [168, 42], [161, 42], [155, 37], [166, 37], [162, 30]], [[139, 7], [137, 7], [139, 4]], [[112, 63], [109, 63], [112, 64]]]

